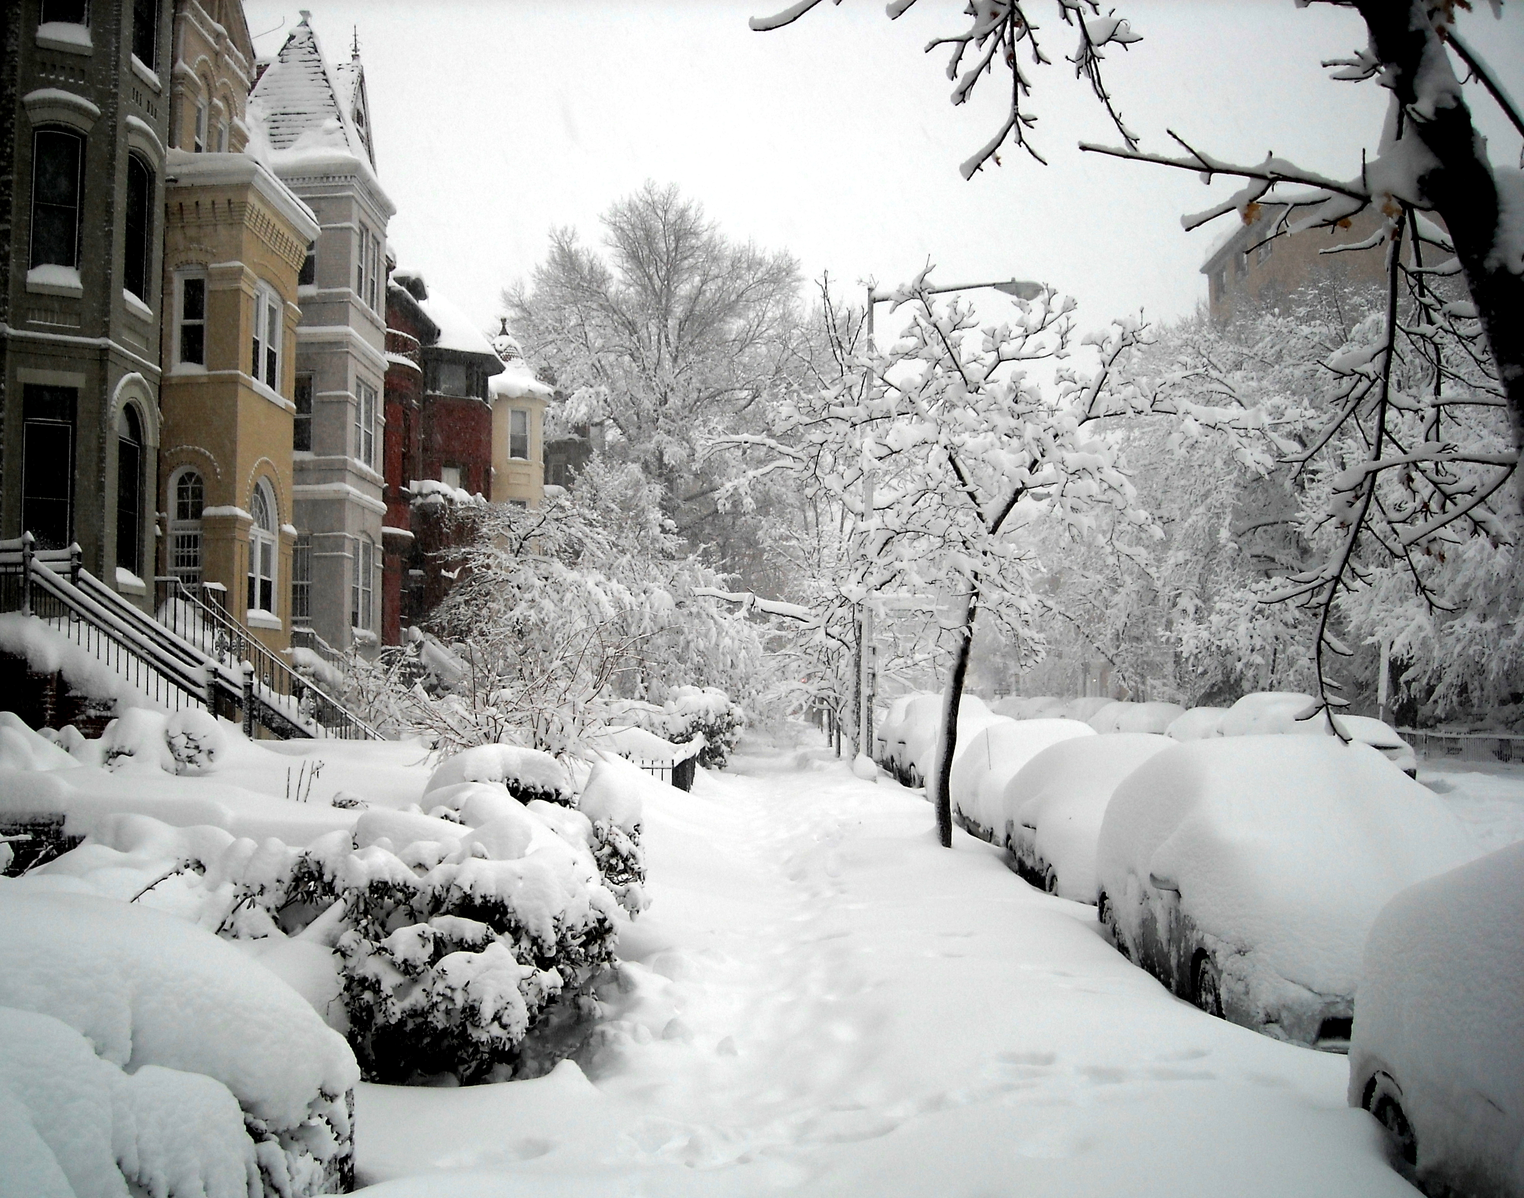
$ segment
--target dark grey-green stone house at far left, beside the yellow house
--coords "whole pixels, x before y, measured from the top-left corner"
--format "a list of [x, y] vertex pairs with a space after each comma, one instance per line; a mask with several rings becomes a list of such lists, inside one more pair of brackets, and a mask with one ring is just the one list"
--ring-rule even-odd
[[11, 0], [0, 17], [0, 537], [79, 541], [143, 605], [171, 8]]

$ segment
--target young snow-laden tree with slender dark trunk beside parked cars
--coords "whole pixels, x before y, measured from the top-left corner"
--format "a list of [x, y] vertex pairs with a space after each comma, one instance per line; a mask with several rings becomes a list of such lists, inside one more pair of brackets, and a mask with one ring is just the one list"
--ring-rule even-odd
[[[843, 514], [847, 599], [948, 602], [952, 651], [931, 794], [951, 844], [948, 780], [978, 614], [989, 611], [1009, 639], [1036, 648], [1029, 532], [1052, 521], [1085, 537], [1106, 509], [1151, 523], [1100, 422], [1169, 413], [1233, 433], [1251, 457], [1247, 437], [1260, 418], [1119, 386], [1119, 364], [1143, 341], [1138, 320], [1084, 338], [1096, 360], [1085, 369], [1070, 357], [1071, 300], [1045, 293], [1018, 303], [1009, 323], [981, 329], [966, 305], [937, 306], [928, 288], [922, 274], [896, 296], [910, 325], [893, 346], [856, 355], [840, 383], [800, 393], [768, 434], [728, 444], [759, 456], [753, 472], [791, 471], [806, 494]], [[1033, 366], [1052, 367], [1056, 386], [1044, 387]]]

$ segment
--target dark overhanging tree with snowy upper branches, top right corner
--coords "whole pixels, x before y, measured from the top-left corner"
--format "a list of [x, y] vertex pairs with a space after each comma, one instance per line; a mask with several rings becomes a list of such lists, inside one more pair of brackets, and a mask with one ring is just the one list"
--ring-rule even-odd
[[[771, 17], [754, 17], [751, 27], [771, 30], [803, 17], [820, 0], [797, 0]], [[837, 0], [840, 3], [840, 0]], [[907, 12], [916, 0], [892, 0], [892, 18]], [[1353, 8], [1366, 21], [1369, 43], [1347, 58], [1329, 59], [1334, 78], [1350, 82], [1376, 81], [1391, 93], [1387, 127], [1378, 154], [1366, 160], [1352, 146], [1352, 177], [1327, 178], [1295, 163], [1266, 155], [1260, 163], [1230, 163], [1198, 151], [1170, 131], [1184, 154], [1145, 152], [1140, 139], [1122, 119], [1102, 78], [1106, 49], [1140, 41], [1140, 35], [1116, 11], [1102, 12], [1099, 0], [1055, 0], [1064, 26], [1076, 37], [1067, 61], [1085, 78], [1105, 108], [1122, 146], [1082, 143], [1081, 149], [1152, 162], [1199, 174], [1212, 183], [1218, 175], [1247, 180], [1230, 200], [1186, 216], [1195, 229], [1228, 212], [1251, 219], [1262, 201], [1285, 203], [1273, 236], [1301, 229], [1344, 227], [1356, 212], [1375, 209], [1387, 215], [1393, 230], [1411, 219], [1413, 212], [1437, 213], [1446, 229], [1442, 256], [1431, 267], [1458, 273], [1466, 283], [1483, 340], [1497, 363], [1497, 376], [1507, 402], [1515, 448], [1524, 444], [1524, 224], [1513, 215], [1524, 207], [1524, 172], [1494, 166], [1487, 142], [1472, 123], [1462, 78], [1478, 81], [1524, 134], [1524, 111], [1512, 101], [1501, 79], [1483, 56], [1460, 37], [1458, 12], [1469, 5], [1454, 0], [1300, 0]], [[954, 79], [952, 102], [963, 104], [978, 84], [997, 72], [1007, 75], [1010, 104], [1000, 130], [969, 157], [962, 172], [974, 175], [986, 163], [1000, 163], [998, 152], [1009, 142], [1042, 162], [1032, 142], [1036, 116], [1030, 110], [1035, 69], [1052, 66], [1045, 35], [1032, 18], [1032, 0], [980, 0], [965, 12], [962, 29], [939, 37], [927, 49], [949, 47], [948, 78]], [[1503, 0], [1492, 0], [1501, 17]], [[1454, 58], [1452, 58], [1454, 56]], [[1027, 61], [1030, 59], [1030, 61]], [[1460, 62], [1457, 73], [1455, 59]], [[1286, 187], [1303, 191], [1286, 194]], [[1378, 239], [1373, 239], [1376, 242]]]

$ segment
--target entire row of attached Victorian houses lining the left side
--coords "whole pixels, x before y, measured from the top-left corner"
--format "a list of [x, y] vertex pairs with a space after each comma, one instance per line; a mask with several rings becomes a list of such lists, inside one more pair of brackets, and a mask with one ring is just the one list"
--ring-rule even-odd
[[0, 538], [274, 654], [396, 643], [451, 576], [418, 500], [536, 506], [552, 390], [392, 282], [358, 44], [303, 11], [256, 61], [239, 0], [0, 21]]

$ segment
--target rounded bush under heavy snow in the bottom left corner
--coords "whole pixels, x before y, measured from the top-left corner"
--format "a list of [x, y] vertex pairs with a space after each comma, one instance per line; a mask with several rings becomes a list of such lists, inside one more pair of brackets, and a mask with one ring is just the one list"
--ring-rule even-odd
[[[352, 1184], [354, 1053], [244, 953], [165, 911], [29, 878], [0, 882], [0, 1007], [15, 1009], [0, 1018], [0, 1105], [29, 1111], [21, 1168], [35, 1177], [239, 1198]], [[62, 1119], [79, 1139], [49, 1172], [37, 1140], [50, 1148]]]

